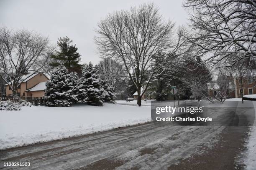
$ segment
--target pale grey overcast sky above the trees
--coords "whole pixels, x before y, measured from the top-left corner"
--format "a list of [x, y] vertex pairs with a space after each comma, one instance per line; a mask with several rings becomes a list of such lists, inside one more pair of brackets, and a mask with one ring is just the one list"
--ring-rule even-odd
[[56, 45], [58, 37], [68, 36], [78, 47], [82, 62], [96, 64], [94, 29], [100, 19], [115, 10], [154, 2], [159, 12], [176, 25], [187, 23], [182, 0], [0, 0], [0, 26], [35, 30]]

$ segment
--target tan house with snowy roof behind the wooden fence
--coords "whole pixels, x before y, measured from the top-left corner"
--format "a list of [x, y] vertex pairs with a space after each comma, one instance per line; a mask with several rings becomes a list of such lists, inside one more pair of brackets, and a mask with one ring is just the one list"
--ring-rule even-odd
[[[43, 97], [46, 89], [45, 83], [49, 80], [49, 77], [44, 73], [37, 73], [32, 76], [27, 75], [26, 77], [24, 77], [23, 81], [20, 83], [20, 86], [17, 89], [17, 94], [20, 97]], [[5, 84], [6, 96], [11, 96], [13, 94], [9, 84]]]

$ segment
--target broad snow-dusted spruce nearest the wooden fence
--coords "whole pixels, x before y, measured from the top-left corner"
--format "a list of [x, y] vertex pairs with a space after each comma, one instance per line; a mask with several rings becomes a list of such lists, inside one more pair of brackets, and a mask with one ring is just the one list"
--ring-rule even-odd
[[67, 81], [69, 73], [66, 67], [59, 65], [51, 73], [51, 80], [46, 82], [45, 99], [46, 106], [70, 106], [70, 96], [68, 91], [71, 89]]

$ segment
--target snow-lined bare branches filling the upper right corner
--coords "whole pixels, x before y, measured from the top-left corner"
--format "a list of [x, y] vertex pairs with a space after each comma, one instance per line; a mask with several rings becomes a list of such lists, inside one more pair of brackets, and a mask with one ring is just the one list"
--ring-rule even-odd
[[[245, 57], [256, 57], [255, 0], [185, 0], [191, 13], [192, 34], [185, 37], [195, 45], [197, 56], [216, 64], [230, 65]], [[232, 54], [240, 54], [236, 60]]]

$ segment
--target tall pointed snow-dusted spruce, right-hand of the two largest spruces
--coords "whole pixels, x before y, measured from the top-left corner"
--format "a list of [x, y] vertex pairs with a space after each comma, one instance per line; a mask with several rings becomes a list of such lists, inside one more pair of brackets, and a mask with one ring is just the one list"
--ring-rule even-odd
[[103, 88], [97, 65], [94, 67], [91, 62], [89, 65], [84, 65], [82, 69], [81, 85], [84, 88], [80, 89], [80, 91], [84, 91], [84, 96], [86, 97], [79, 97], [80, 100], [83, 102], [86, 101], [88, 105], [103, 105]]

